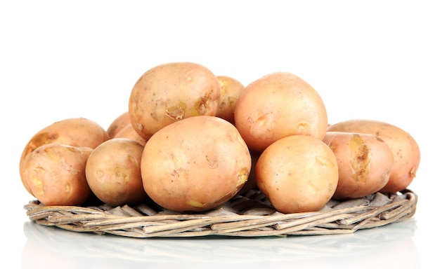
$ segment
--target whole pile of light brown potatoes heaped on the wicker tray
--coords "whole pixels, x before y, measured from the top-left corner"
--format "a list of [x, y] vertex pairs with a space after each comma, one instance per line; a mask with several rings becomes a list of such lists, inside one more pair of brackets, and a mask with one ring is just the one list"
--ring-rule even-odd
[[329, 124], [321, 96], [295, 74], [244, 86], [170, 62], [145, 71], [108, 128], [68, 118], [39, 130], [22, 151], [20, 178], [44, 205], [148, 201], [203, 212], [258, 188], [287, 214], [403, 191], [419, 163], [417, 142], [395, 125]]

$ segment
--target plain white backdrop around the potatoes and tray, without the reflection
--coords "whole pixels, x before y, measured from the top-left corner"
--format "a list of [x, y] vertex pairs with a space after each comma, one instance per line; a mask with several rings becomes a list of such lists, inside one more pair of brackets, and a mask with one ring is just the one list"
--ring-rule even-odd
[[33, 198], [18, 162], [32, 135], [79, 116], [107, 128], [144, 71], [178, 61], [244, 85], [289, 71], [318, 90], [329, 123], [408, 131], [422, 152], [413, 242], [423, 265], [435, 261], [439, 12], [436, 1], [1, 1], [1, 263], [21, 266]]

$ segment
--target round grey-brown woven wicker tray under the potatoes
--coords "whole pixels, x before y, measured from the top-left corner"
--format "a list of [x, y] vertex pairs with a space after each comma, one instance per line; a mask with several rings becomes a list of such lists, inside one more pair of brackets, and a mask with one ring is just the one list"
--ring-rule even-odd
[[181, 214], [141, 204], [136, 206], [44, 206], [34, 200], [25, 205], [31, 221], [44, 226], [124, 237], [262, 237], [335, 235], [375, 228], [410, 219], [418, 197], [413, 191], [375, 193], [347, 201], [330, 200], [318, 212], [282, 214], [258, 190], [235, 195], [221, 207], [203, 214]]

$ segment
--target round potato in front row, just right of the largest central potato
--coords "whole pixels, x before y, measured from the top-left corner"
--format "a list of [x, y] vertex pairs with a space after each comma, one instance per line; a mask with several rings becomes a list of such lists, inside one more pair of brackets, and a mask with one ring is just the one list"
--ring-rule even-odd
[[258, 188], [279, 212], [318, 211], [332, 198], [337, 160], [321, 139], [292, 135], [273, 142], [255, 167]]

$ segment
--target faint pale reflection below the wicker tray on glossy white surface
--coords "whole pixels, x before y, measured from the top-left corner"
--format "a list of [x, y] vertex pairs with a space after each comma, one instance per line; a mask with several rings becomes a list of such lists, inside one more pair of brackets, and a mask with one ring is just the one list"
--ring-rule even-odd
[[351, 235], [138, 239], [27, 221], [22, 268], [419, 268], [415, 230], [409, 219]]

